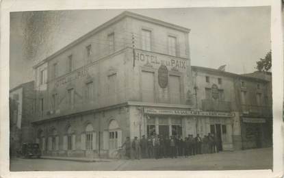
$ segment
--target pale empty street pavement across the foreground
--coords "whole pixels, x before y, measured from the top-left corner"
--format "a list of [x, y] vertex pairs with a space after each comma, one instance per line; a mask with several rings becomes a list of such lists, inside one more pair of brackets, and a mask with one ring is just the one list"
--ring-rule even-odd
[[190, 157], [76, 162], [70, 160], [12, 159], [11, 171], [24, 170], [248, 170], [271, 169], [272, 148], [194, 155]]

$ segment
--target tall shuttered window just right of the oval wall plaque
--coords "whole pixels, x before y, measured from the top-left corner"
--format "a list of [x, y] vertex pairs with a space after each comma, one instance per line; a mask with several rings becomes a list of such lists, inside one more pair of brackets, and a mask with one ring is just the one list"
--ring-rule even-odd
[[181, 102], [181, 81], [179, 76], [170, 75], [170, 103], [179, 104]]

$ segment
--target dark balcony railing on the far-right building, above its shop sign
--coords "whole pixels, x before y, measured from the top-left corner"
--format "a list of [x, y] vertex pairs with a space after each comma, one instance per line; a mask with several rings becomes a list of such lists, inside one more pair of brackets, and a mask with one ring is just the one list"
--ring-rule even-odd
[[258, 114], [262, 116], [272, 116], [272, 106], [270, 105], [242, 105], [243, 114]]

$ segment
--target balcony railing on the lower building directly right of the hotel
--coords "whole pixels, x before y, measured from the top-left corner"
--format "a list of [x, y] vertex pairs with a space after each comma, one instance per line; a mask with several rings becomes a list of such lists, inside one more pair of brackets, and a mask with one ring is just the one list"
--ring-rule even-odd
[[231, 102], [229, 101], [214, 101], [212, 99], [202, 100], [203, 111], [218, 111], [218, 112], [231, 112]]

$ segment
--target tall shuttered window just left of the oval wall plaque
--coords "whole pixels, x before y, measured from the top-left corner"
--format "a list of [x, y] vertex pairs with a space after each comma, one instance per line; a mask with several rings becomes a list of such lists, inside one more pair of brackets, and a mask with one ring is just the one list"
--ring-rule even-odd
[[154, 73], [142, 71], [142, 101], [155, 101]]

